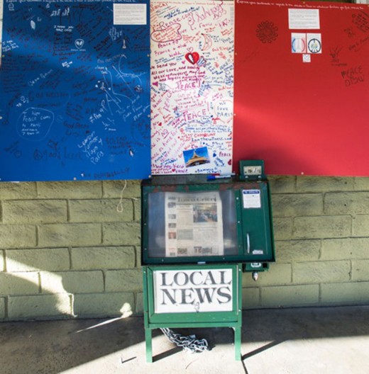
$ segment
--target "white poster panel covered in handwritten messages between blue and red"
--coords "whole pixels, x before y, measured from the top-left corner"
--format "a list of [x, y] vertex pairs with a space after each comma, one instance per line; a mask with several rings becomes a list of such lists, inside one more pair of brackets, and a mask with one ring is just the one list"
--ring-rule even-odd
[[152, 173], [229, 173], [233, 1], [150, 8]]

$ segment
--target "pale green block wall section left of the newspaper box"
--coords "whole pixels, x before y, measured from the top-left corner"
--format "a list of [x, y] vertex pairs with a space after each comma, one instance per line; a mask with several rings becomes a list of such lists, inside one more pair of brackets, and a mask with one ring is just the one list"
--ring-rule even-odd
[[0, 183], [0, 319], [136, 313], [140, 182], [124, 185]]

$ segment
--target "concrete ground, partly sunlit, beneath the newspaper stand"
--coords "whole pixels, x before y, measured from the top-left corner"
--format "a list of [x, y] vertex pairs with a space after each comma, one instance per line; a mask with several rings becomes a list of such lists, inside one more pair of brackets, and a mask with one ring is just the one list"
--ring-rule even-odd
[[143, 318], [0, 323], [0, 373], [334, 373], [369, 372], [369, 306], [243, 311], [242, 361], [233, 330], [187, 329], [206, 338], [188, 353], [154, 331], [145, 362]]

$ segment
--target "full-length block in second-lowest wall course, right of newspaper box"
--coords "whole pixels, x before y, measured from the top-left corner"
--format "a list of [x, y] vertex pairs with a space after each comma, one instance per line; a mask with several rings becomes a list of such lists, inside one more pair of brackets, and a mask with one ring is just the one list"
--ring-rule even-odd
[[350, 261], [294, 263], [293, 283], [335, 283], [350, 280]]

